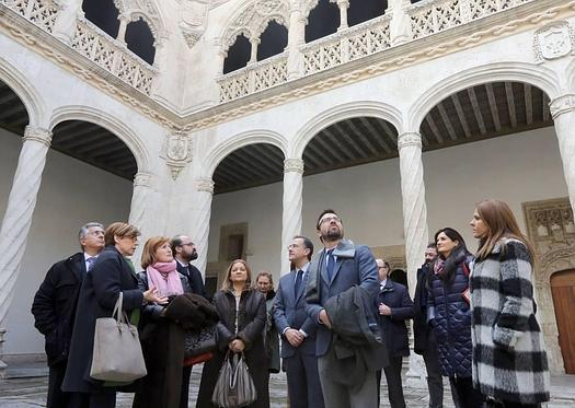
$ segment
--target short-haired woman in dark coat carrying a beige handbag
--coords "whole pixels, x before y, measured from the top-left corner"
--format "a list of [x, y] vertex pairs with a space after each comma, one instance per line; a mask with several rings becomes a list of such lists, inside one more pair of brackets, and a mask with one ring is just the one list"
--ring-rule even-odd
[[136, 250], [139, 234], [138, 229], [130, 224], [111, 224], [104, 235], [106, 247], [83, 280], [62, 383], [62, 390], [72, 393], [72, 406], [108, 408], [116, 405], [116, 388], [92, 380], [90, 369], [95, 322], [100, 317], [112, 316], [119, 293], [123, 293], [123, 310], [128, 315], [139, 311], [143, 301], [165, 302], [153, 288], [146, 292], [138, 289], [131, 261], [125, 258]]

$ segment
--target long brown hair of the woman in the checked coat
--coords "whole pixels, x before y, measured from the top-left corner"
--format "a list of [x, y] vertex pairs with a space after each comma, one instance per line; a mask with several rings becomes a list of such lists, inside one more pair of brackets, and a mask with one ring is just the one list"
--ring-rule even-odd
[[536, 255], [533, 246], [519, 230], [519, 224], [507, 202], [495, 199], [483, 200], [478, 203], [475, 209], [487, 226], [486, 236], [480, 240], [478, 259], [485, 259], [493, 252], [493, 247], [499, 240], [514, 238], [527, 246], [531, 265], [533, 265]]

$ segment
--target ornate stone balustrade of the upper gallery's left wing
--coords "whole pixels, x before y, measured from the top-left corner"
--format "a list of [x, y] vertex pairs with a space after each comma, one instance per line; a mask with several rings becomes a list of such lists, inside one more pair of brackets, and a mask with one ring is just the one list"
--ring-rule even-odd
[[[54, 0], [0, 0], [24, 19], [51, 33], [60, 7]], [[128, 85], [149, 95], [156, 70], [85, 19], [76, 23], [71, 47]]]

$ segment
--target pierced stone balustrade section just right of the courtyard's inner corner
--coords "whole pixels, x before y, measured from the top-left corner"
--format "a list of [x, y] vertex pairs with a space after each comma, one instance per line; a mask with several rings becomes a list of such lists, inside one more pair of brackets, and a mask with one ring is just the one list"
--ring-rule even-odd
[[287, 54], [283, 53], [220, 77], [220, 102], [233, 101], [285, 82]]

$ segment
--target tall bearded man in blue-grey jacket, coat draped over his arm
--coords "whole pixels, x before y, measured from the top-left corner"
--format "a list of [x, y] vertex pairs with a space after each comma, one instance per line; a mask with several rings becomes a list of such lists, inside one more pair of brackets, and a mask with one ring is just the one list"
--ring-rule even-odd
[[[323, 211], [315, 228], [324, 248], [313, 257], [308, 270], [306, 307], [311, 320], [318, 324], [315, 355], [323, 399], [330, 408], [375, 408], [378, 404], [377, 361], [365, 362], [361, 381], [348, 378], [348, 372], [332, 373], [329, 369], [330, 363], [337, 361], [338, 354], [346, 351], [333, 347], [334, 335], [325, 304], [331, 298], [359, 287], [366, 296], [366, 304], [372, 305], [379, 289], [376, 260], [367, 246], [344, 240], [342, 220], [335, 211]], [[353, 351], [361, 352], [359, 349]], [[345, 376], [347, 384], [336, 381]]]

